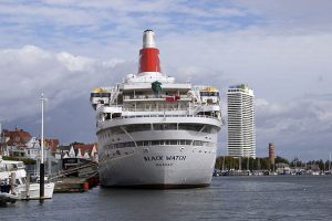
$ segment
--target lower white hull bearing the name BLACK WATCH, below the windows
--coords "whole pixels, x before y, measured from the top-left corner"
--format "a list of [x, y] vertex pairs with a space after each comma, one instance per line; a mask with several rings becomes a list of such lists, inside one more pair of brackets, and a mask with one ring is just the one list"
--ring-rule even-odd
[[131, 154], [101, 166], [102, 186], [200, 187], [211, 181], [215, 147], [145, 146], [124, 151]]

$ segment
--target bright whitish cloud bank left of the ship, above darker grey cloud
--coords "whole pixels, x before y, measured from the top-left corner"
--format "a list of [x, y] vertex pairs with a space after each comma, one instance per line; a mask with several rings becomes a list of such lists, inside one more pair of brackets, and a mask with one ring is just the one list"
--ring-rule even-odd
[[118, 71], [122, 64], [123, 61], [116, 59], [97, 61], [33, 45], [1, 50], [1, 117], [12, 120], [38, 113], [41, 93], [48, 96], [50, 108], [86, 95], [107, 78], [110, 84], [118, 80], [113, 71]]

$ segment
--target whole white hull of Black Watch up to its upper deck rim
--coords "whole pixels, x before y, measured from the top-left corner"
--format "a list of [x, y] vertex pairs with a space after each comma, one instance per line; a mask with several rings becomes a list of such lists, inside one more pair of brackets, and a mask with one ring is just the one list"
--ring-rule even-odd
[[[144, 120], [147, 119], [118, 119], [116, 125], [138, 124]], [[180, 120], [220, 126], [219, 120], [204, 117], [169, 117], [162, 120], [170, 124]], [[160, 118], [149, 117], [148, 122], [157, 123]], [[148, 130], [108, 137], [107, 134], [112, 131], [114, 124], [104, 124], [104, 128], [101, 128], [97, 134], [101, 147], [98, 172], [102, 186], [180, 188], [203, 187], [210, 183], [216, 160], [216, 133]], [[135, 140], [137, 146], [108, 148], [107, 144], [113, 140]], [[157, 140], [163, 140], [163, 145]], [[199, 145], [195, 145], [197, 143]]]

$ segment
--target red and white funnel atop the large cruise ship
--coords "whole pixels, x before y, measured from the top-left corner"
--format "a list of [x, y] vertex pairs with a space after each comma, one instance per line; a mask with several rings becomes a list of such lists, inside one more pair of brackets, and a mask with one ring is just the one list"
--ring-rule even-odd
[[143, 49], [139, 50], [138, 74], [143, 72], [160, 72], [159, 50], [156, 49], [155, 33], [145, 30], [143, 33]]

